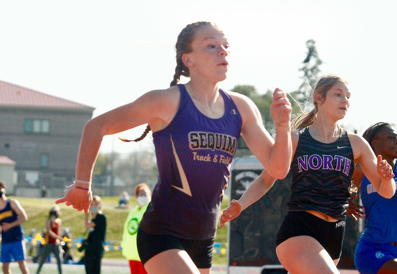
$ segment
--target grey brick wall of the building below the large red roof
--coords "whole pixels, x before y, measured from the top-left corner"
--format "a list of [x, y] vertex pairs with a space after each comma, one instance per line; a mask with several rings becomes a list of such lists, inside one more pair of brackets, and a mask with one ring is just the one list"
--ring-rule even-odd
[[[72, 177], [81, 134], [92, 111], [33, 108], [1, 108], [0, 155], [16, 162], [15, 170], [39, 170]], [[25, 132], [26, 119], [49, 120], [49, 133]], [[48, 168], [40, 166], [48, 155]]]

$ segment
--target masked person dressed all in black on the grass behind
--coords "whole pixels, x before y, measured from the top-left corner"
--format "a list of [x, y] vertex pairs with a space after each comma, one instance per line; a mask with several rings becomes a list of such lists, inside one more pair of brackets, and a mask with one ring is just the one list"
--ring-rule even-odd
[[106, 216], [102, 213], [102, 202], [99, 196], [93, 196], [90, 210], [91, 221], [88, 220], [89, 213], [85, 214], [84, 220], [85, 228], [88, 230], [88, 246], [85, 249], [84, 265], [87, 274], [98, 274], [100, 273], [106, 235]]

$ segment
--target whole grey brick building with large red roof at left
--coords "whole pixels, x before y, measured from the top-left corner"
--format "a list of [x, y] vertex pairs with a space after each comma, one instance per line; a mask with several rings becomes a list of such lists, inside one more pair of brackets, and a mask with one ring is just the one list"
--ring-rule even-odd
[[74, 178], [94, 108], [0, 81], [0, 155], [15, 162], [17, 187], [61, 187]]

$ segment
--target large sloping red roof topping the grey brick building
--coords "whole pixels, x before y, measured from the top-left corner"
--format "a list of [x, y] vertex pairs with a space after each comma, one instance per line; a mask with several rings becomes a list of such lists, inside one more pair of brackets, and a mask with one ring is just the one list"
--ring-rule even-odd
[[95, 108], [0, 81], [0, 106], [44, 108]]

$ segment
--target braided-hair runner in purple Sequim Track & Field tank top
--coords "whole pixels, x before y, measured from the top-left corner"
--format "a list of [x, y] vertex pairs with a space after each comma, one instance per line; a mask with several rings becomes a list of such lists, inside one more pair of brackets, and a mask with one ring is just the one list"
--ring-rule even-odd
[[[219, 82], [226, 79], [229, 70], [229, 55], [229, 42], [214, 23], [187, 25], [176, 42], [177, 66], [171, 87], [149, 91], [134, 102], [87, 122], [77, 157], [75, 184], [64, 198], [57, 201], [87, 212], [92, 200], [92, 171], [102, 137], [148, 123], [150, 127], [147, 129], [152, 130], [156, 147], [159, 181], [137, 238], [139, 254], [149, 274], [210, 273], [214, 224], [218, 220], [229, 164], [240, 132], [266, 170], [272, 171], [272, 177], [284, 178], [288, 173], [292, 153], [291, 104], [283, 91], [274, 91], [270, 106], [276, 123], [273, 140], [262, 124], [258, 108], [249, 98], [219, 89]], [[179, 87], [177, 82], [181, 75], [190, 77], [190, 81]], [[181, 112], [187, 114], [181, 102], [189, 102], [191, 117], [197, 121], [190, 124], [188, 118], [180, 117]], [[230, 128], [228, 122], [222, 122], [229, 118], [233, 120], [234, 128]], [[175, 120], [184, 127], [198, 129], [191, 129], [182, 136]], [[208, 128], [204, 128], [206, 125]], [[223, 127], [233, 133], [224, 131]], [[134, 141], [142, 139], [148, 130]], [[156, 145], [161, 142], [164, 145]], [[184, 153], [180, 153], [181, 149]], [[217, 172], [215, 176], [213, 172]], [[212, 180], [216, 187], [210, 184]], [[207, 184], [200, 185], [203, 182]], [[172, 199], [172, 202], [167, 203], [164, 198]], [[200, 200], [204, 202], [200, 203]], [[174, 211], [165, 210], [168, 207]], [[167, 218], [159, 212], [167, 212]], [[193, 236], [181, 233], [190, 232], [185, 227], [196, 222], [196, 218], [205, 219], [206, 214], [210, 216], [210, 226], [201, 222], [195, 226]], [[170, 218], [179, 222], [170, 226]]]

